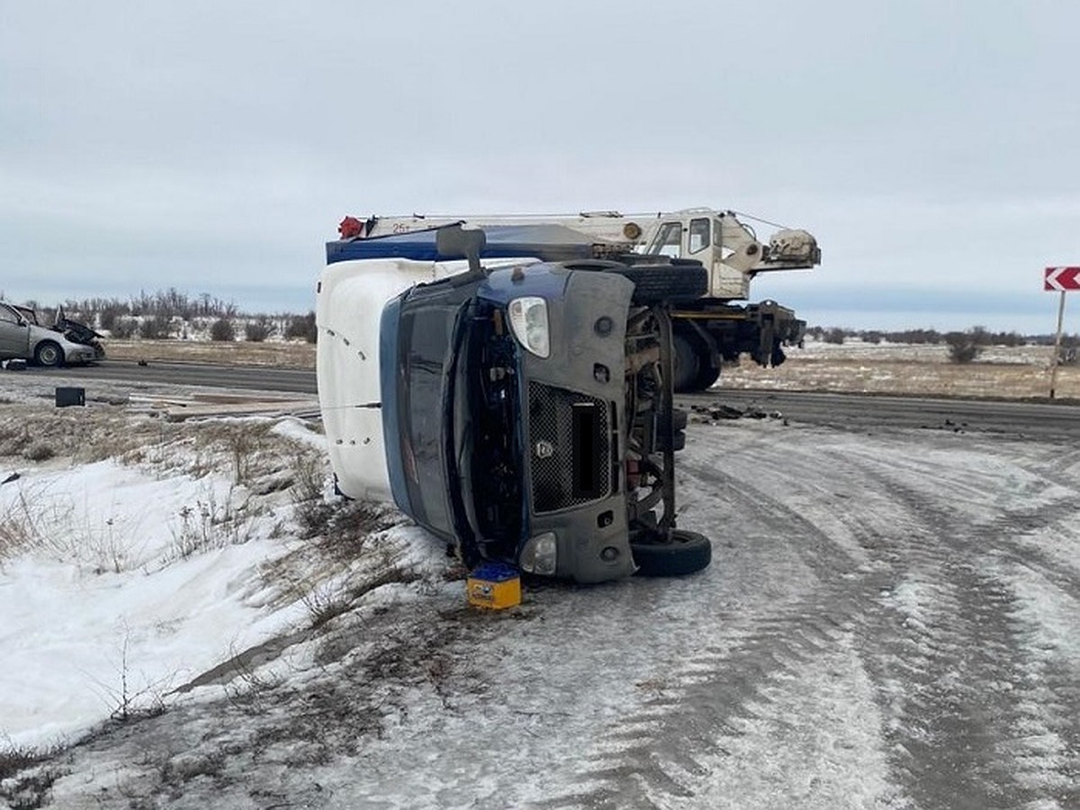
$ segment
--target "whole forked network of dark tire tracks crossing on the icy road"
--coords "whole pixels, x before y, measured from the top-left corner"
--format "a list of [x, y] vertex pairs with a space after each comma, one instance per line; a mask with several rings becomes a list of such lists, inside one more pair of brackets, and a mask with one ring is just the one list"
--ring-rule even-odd
[[[1002, 529], [1054, 524], [1069, 514], [1070, 505], [1052, 501], [1037, 509], [1002, 508], [993, 486], [980, 492], [969, 472], [947, 459], [904, 464], [909, 438], [901, 437], [875, 442], [859, 458], [832, 456], [829, 481], [850, 497], [845, 515], [823, 524], [820, 512], [811, 519], [791, 509], [785, 503], [791, 491], [762, 490], [770, 473], [782, 476], [785, 486], [799, 473], [811, 482], [810, 476], [821, 475], [822, 449], [798, 450], [795, 457], [792, 447], [785, 448], [771, 470], [761, 463], [767, 456], [751, 454], [754, 485], [740, 474], [738, 463], [726, 464], [732, 471], [720, 473], [688, 460], [680, 470], [719, 487], [735, 503], [737, 514], [754, 515], [760, 534], [797, 538], [796, 548], [819, 585], [759, 617], [752, 629], [728, 631], [730, 645], [688, 661], [672, 691], [645, 701], [590, 756], [580, 774], [582, 789], [545, 806], [659, 807], [671, 798], [688, 798], [692, 774], [706, 767], [703, 761], [725, 754], [723, 741], [737, 739], [747, 723], [769, 714], [769, 685], [812, 669], [845, 633], [858, 639], [886, 715], [882, 742], [897, 787], [890, 801], [949, 808], [1080, 805], [1062, 786], [1070, 773], [1076, 784], [1069, 770], [1076, 762], [1076, 721], [1054, 731], [1029, 711], [1032, 696], [1025, 688], [1027, 661], [1021, 644], [1029, 629], [1008, 583], [984, 564], [989, 548], [1017, 553], [998, 535]], [[866, 509], [882, 496], [899, 513], [885, 528]], [[981, 499], [975, 511], [993, 516], [964, 519], [954, 508], [958, 497]], [[850, 532], [845, 542], [837, 542], [838, 528]], [[987, 543], [986, 535], [995, 539]], [[865, 551], [862, 565], [852, 540]], [[1067, 568], [1045, 570], [1075, 590], [1075, 575]], [[928, 600], [920, 605], [921, 620], [905, 616], [892, 598], [897, 583], [917, 588]], [[1075, 705], [1077, 690], [1059, 679], [1040, 689], [1049, 691], [1054, 705]], [[1069, 756], [1045, 756], [1040, 750], [1045, 734], [1065, 740]]]

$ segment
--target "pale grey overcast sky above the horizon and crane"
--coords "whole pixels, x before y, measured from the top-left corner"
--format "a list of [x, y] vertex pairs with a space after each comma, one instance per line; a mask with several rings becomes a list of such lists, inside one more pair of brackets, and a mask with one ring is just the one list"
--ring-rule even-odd
[[1049, 333], [1078, 36], [1065, 0], [0, 0], [0, 292], [307, 311], [345, 214], [707, 205], [818, 237], [753, 291], [811, 324]]

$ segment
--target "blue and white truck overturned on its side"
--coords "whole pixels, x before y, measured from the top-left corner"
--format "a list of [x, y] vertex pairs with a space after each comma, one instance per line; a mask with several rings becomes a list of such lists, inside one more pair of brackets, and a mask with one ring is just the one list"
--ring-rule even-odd
[[[337, 486], [392, 497], [470, 566], [700, 570], [710, 542], [675, 518], [672, 310], [708, 273], [597, 259], [565, 235], [447, 226], [327, 245], [318, 373]], [[401, 258], [403, 240], [423, 260]], [[555, 244], [558, 260], [480, 260]], [[462, 257], [463, 272], [443, 265]]]

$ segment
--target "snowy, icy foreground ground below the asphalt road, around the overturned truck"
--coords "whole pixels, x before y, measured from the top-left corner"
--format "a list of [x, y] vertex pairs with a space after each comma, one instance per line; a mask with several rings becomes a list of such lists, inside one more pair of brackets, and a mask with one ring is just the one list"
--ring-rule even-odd
[[1080, 807], [1075, 446], [692, 421], [708, 569], [489, 613], [314, 423], [4, 381], [0, 807]]

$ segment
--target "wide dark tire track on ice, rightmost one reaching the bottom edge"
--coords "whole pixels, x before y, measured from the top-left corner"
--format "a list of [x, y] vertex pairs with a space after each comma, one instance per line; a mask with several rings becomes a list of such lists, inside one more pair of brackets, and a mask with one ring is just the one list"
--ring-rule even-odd
[[[1075, 508], [1049, 501], [1030, 508], [1002, 508], [989, 519], [967, 519], [956, 501], [970, 489], [945, 469], [924, 469], [918, 478], [897, 476], [880, 462], [862, 459], [868, 475], [889, 482], [897, 500], [921, 509], [931, 529], [913, 548], [919, 565], [910, 583], [931, 598], [917, 606], [922, 616], [907, 616], [914, 632], [881, 636], [880, 654], [868, 656], [875, 677], [883, 685], [891, 727], [888, 735], [894, 765], [919, 807], [1074, 807], [1076, 773], [1055, 748], [1043, 744], [1057, 731], [1047, 713], [1036, 710], [1047, 699], [1059, 704], [1065, 685], [1039, 686], [1032, 700], [1031, 661], [1024, 639], [1031, 632], [1017, 608], [1009, 582], [997, 572], [990, 555], [1015, 557], [1013, 527], [1034, 531], [1062, 522]], [[918, 487], [912, 486], [919, 481]], [[984, 509], [997, 498], [986, 489]], [[1023, 554], [1029, 565], [1031, 556]], [[1044, 571], [1076, 593], [1076, 575], [1051, 564]], [[906, 677], [897, 692], [889, 685], [889, 667], [902, 661]], [[890, 697], [890, 692], [892, 696]], [[1080, 714], [1067, 715], [1076, 728]], [[1075, 756], [1075, 750], [1074, 750]], [[1071, 784], [1071, 789], [1063, 785]]]

